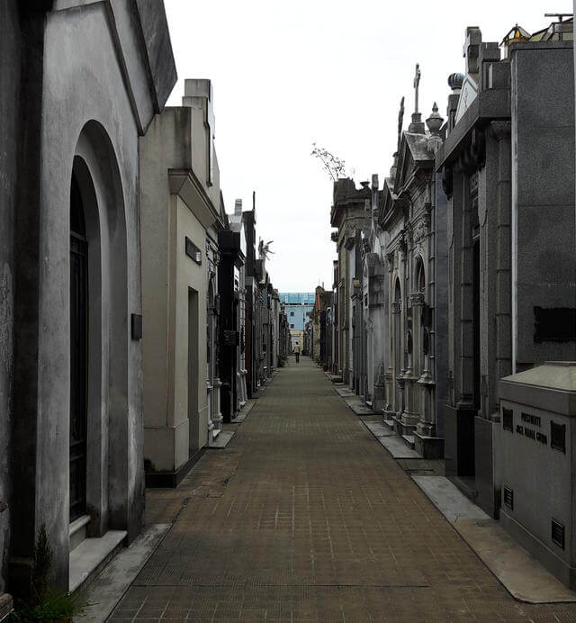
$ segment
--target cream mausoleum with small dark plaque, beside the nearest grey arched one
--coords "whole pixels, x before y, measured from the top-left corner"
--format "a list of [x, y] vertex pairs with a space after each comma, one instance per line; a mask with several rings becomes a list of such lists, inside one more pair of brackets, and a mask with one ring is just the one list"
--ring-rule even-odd
[[[219, 170], [207, 185], [202, 97], [166, 108], [140, 140], [145, 451], [150, 472], [175, 472], [208, 441], [207, 227], [220, 204]], [[172, 171], [173, 173], [169, 173]], [[190, 174], [189, 174], [190, 172]], [[174, 175], [173, 175], [174, 174]], [[214, 203], [216, 202], [216, 203]], [[185, 238], [202, 252], [198, 265]], [[195, 293], [198, 374], [188, 410], [188, 296]], [[215, 353], [212, 352], [212, 358]], [[216, 414], [214, 414], [216, 415]], [[149, 463], [148, 463], [149, 461]]]

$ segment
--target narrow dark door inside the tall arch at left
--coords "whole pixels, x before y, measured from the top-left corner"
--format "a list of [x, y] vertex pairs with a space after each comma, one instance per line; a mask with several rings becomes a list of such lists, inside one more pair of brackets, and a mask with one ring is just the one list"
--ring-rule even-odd
[[86, 510], [88, 242], [82, 196], [70, 188], [70, 521]]

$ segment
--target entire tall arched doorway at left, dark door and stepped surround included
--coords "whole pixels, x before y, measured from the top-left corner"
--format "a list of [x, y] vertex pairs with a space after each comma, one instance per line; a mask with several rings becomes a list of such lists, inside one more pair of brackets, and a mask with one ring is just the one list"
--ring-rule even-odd
[[100, 537], [131, 528], [141, 501], [127, 475], [140, 416], [129, 402], [129, 349], [139, 354], [129, 341], [137, 310], [128, 304], [124, 198], [112, 143], [97, 122], [86, 123], [76, 143], [69, 218], [69, 518], [82, 518], [85, 537]]

